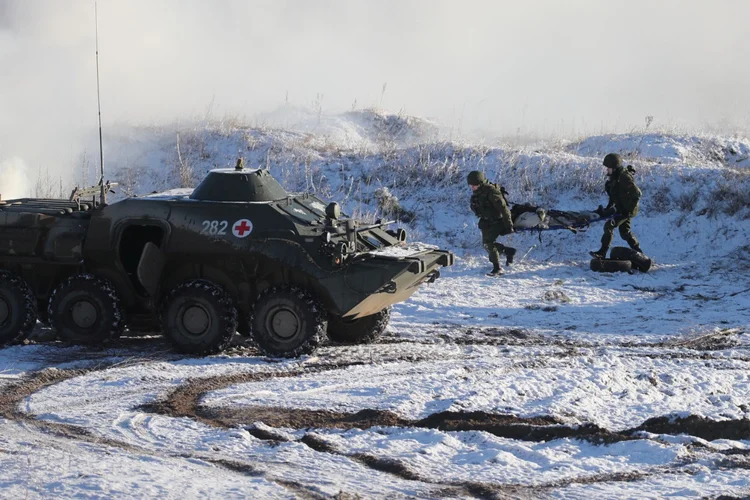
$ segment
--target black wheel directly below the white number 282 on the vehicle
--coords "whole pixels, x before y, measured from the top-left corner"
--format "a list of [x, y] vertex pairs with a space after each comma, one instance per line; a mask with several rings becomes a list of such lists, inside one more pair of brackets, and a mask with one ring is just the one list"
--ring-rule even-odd
[[229, 346], [237, 329], [237, 309], [216, 283], [191, 280], [169, 292], [161, 321], [164, 335], [177, 350], [213, 354]]

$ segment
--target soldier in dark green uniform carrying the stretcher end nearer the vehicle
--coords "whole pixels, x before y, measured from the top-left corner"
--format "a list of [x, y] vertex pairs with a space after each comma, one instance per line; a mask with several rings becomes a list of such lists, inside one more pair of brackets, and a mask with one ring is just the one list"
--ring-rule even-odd
[[516, 249], [496, 243], [498, 236], [513, 232], [513, 220], [508, 210], [508, 202], [505, 199], [505, 190], [497, 184], [487, 181], [482, 172], [474, 170], [469, 172], [466, 182], [471, 187], [471, 211], [479, 217], [479, 229], [482, 231], [482, 245], [489, 254], [492, 262], [492, 271], [487, 276], [499, 276], [503, 274], [500, 269], [500, 252], [505, 254], [505, 264], [513, 263]]

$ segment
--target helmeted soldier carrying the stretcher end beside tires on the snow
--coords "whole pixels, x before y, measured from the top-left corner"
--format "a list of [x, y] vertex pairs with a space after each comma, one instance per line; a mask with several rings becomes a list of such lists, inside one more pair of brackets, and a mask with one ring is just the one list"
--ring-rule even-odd
[[630, 245], [630, 248], [641, 252], [638, 240], [630, 232], [630, 221], [638, 214], [638, 202], [641, 199], [641, 190], [633, 180], [634, 170], [630, 166], [623, 167], [622, 158], [615, 153], [605, 156], [603, 165], [607, 167], [609, 177], [604, 185], [604, 190], [609, 195], [609, 203], [606, 209], [600, 205], [596, 212], [602, 216], [616, 214], [616, 217], [604, 224], [601, 248], [589, 253], [595, 259], [606, 258], [616, 227], [620, 228], [620, 237]]

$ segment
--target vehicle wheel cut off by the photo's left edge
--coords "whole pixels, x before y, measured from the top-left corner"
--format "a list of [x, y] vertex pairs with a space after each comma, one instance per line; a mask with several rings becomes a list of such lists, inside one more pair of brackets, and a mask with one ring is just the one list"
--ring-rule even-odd
[[0, 271], [0, 345], [21, 342], [36, 325], [36, 297], [26, 280]]

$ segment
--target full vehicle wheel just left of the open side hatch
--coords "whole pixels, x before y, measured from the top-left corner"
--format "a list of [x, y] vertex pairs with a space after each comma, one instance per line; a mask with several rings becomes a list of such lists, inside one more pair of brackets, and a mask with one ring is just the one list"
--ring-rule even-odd
[[93, 274], [72, 276], [55, 288], [47, 315], [60, 338], [74, 344], [117, 338], [125, 325], [115, 287]]

